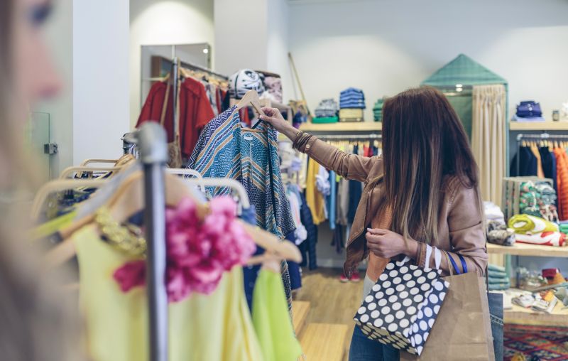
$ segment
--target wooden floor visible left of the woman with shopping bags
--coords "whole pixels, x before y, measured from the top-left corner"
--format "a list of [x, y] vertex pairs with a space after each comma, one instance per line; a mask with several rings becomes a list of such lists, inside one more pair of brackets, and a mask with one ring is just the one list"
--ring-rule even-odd
[[349, 355], [349, 343], [353, 333], [353, 316], [361, 306], [363, 281], [359, 283], [339, 281], [341, 269], [324, 269], [304, 271], [302, 289], [295, 293], [295, 300], [310, 301], [307, 323], [344, 324], [349, 327], [346, 338], [344, 360]]

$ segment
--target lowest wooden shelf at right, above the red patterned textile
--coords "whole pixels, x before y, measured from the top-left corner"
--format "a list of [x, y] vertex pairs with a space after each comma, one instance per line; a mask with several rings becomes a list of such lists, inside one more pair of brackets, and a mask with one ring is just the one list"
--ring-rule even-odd
[[558, 301], [552, 313], [532, 311], [530, 308], [513, 305], [510, 310], [505, 310], [505, 323], [517, 323], [521, 325], [547, 325], [565, 326], [568, 324], [568, 308]]

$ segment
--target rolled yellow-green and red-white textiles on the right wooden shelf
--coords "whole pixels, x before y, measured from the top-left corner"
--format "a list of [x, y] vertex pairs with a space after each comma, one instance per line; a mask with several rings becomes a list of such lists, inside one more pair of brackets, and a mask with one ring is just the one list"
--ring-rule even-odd
[[564, 246], [566, 235], [559, 232], [556, 223], [532, 215], [513, 215], [508, 222], [515, 230], [515, 241], [542, 246]]

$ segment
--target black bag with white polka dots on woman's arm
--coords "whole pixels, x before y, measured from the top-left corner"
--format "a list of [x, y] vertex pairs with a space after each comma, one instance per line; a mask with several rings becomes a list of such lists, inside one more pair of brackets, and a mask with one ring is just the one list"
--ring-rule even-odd
[[420, 355], [449, 283], [438, 269], [391, 261], [354, 320], [371, 340]]

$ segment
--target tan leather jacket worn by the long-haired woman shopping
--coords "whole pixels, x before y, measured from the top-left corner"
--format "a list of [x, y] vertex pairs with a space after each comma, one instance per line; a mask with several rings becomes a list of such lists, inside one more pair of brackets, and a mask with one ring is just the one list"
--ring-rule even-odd
[[[347, 276], [351, 276], [356, 266], [368, 257], [365, 230], [371, 224], [372, 217], [381, 216], [377, 213], [383, 209], [385, 202], [383, 158], [345, 153], [305, 133], [300, 133], [296, 137], [294, 148], [307, 153], [310, 158], [325, 168], [335, 171], [339, 176], [365, 184], [347, 241], [344, 272]], [[488, 257], [483, 215], [477, 205], [476, 190], [466, 188], [457, 178], [447, 177], [440, 197], [444, 198], [444, 202], [439, 211], [439, 242], [433, 245], [447, 251], [459, 265], [460, 271], [462, 267], [457, 254], [464, 257], [468, 271], [484, 275]], [[417, 257], [417, 259], [424, 258]]]

